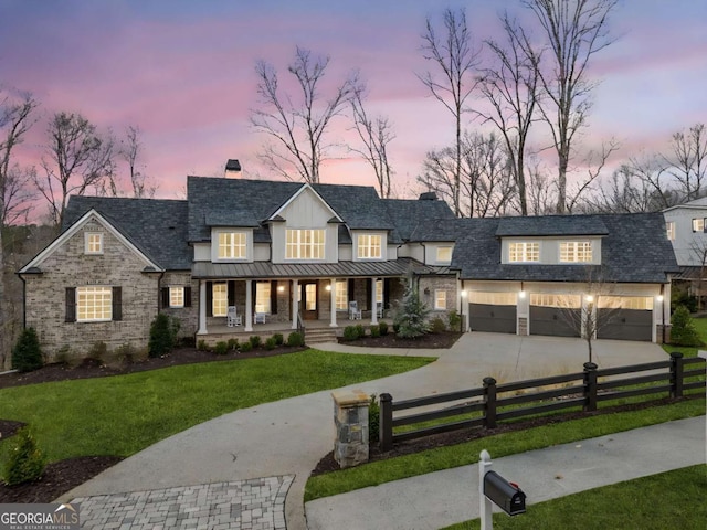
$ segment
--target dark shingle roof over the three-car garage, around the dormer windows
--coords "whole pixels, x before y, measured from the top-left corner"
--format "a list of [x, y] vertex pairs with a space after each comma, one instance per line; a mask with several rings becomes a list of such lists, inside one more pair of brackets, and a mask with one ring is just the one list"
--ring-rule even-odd
[[[541, 235], [537, 233], [537, 226], [551, 224], [556, 218], [526, 218], [529, 225], [534, 219], [540, 222], [525, 235]], [[506, 218], [456, 220], [458, 237], [451, 267], [458, 269], [463, 279], [526, 282], [587, 282], [590, 275], [601, 275], [605, 282], [664, 283], [667, 274], [679, 271], [661, 213], [567, 215], [560, 219], [561, 232], [556, 229], [542, 235], [602, 235], [597, 229], [604, 226], [601, 266], [502, 265], [498, 233], [524, 235], [516, 230], [517, 226], [523, 229], [523, 221], [509, 232], [507, 229], [499, 231], [500, 224], [508, 220]]]

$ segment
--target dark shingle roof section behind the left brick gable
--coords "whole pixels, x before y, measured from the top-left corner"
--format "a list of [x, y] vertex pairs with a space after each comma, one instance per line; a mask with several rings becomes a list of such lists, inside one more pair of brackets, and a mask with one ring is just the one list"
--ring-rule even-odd
[[72, 195], [63, 230], [91, 209], [160, 267], [191, 268], [193, 251], [187, 242], [187, 201]]

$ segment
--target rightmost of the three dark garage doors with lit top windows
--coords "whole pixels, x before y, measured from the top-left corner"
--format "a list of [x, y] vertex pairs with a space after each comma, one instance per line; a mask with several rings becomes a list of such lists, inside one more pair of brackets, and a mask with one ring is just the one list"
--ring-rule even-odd
[[597, 338], [653, 340], [653, 298], [650, 296], [600, 296]]

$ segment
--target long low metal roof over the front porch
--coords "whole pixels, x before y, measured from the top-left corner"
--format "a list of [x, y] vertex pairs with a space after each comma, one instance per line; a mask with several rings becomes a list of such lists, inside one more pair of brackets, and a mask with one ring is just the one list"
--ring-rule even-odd
[[197, 262], [192, 266], [192, 277], [217, 278], [333, 278], [356, 276], [404, 276], [414, 274], [453, 274], [449, 267], [423, 265], [411, 258], [392, 262], [339, 262], [339, 263], [211, 263]]

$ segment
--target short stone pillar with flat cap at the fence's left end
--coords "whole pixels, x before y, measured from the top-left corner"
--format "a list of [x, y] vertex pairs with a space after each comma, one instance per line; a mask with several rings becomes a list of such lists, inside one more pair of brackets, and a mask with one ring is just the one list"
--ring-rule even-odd
[[334, 459], [341, 468], [368, 462], [368, 405], [370, 398], [360, 390], [331, 392], [334, 398]]

